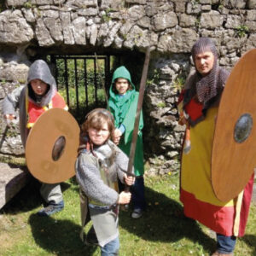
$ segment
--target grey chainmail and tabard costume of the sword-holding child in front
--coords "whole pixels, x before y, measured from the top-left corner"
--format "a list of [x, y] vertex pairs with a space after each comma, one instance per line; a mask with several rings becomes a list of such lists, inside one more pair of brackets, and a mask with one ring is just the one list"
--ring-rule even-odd
[[[111, 141], [96, 147], [94, 154], [82, 150], [76, 161], [76, 177], [82, 190], [80, 196], [82, 232], [88, 214], [92, 220], [96, 236], [101, 247], [119, 236], [118, 215], [113, 209], [119, 199], [119, 193], [113, 189], [117, 179], [124, 183], [124, 172], [128, 167], [128, 157]], [[108, 178], [102, 177], [102, 168], [106, 168]], [[81, 238], [84, 240], [83, 233]]]

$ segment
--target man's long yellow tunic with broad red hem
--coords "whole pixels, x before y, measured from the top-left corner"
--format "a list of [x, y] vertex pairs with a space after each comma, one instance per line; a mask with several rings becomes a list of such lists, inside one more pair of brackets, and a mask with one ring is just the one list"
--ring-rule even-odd
[[[197, 109], [198, 113], [189, 113], [187, 106], [186, 113], [190, 118], [198, 118], [201, 109]], [[209, 108], [203, 120], [189, 127], [191, 148], [182, 155], [180, 201], [183, 202], [187, 217], [200, 221], [224, 236], [243, 236], [252, 197], [253, 177], [241, 194], [231, 201], [219, 201], [214, 195], [211, 156], [217, 113], [218, 107]]]

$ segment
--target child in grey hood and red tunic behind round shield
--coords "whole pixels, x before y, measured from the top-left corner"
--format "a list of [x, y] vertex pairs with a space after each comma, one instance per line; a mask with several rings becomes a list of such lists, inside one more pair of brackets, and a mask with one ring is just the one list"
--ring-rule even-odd
[[[64, 108], [67, 105], [56, 90], [55, 79], [43, 60], [34, 61], [29, 69], [27, 84], [12, 91], [3, 100], [3, 117], [7, 120], [16, 119], [15, 109], [19, 108], [20, 137], [23, 147], [26, 137], [38, 117], [49, 108]], [[40, 193], [47, 207], [38, 215], [49, 216], [64, 207], [61, 186], [42, 183]]]

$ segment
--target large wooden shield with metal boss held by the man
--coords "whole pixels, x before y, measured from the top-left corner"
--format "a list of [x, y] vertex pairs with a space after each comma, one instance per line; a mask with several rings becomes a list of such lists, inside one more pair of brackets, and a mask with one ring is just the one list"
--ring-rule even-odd
[[256, 166], [256, 49], [236, 63], [218, 108], [212, 146], [212, 188], [230, 201], [245, 188]]

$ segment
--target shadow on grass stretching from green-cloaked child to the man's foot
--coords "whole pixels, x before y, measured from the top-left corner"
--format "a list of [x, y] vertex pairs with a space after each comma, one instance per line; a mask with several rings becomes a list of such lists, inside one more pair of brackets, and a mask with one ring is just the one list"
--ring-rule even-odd
[[195, 220], [183, 216], [183, 207], [153, 189], [145, 188], [147, 211], [139, 219], [131, 218], [131, 212], [120, 211], [119, 225], [130, 233], [147, 241], [175, 242], [187, 238], [212, 253], [216, 241], [202, 232]]

